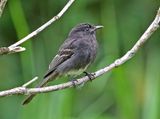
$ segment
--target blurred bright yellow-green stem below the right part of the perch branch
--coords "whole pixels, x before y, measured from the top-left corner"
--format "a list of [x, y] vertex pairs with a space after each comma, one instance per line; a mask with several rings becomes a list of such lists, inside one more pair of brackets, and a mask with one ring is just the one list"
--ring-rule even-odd
[[123, 67], [115, 71], [115, 96], [118, 107], [118, 115], [122, 119], [136, 119], [137, 112], [134, 101], [134, 92], [131, 87], [131, 81], [127, 78]]

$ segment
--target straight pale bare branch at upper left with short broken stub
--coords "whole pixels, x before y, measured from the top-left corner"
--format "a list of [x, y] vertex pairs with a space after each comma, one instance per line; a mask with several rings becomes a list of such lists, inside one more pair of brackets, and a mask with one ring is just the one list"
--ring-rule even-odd
[[48, 22], [46, 22], [45, 24], [43, 24], [41, 27], [39, 27], [37, 30], [35, 30], [32, 33], [28, 34], [26, 37], [22, 38], [18, 42], [10, 45], [8, 48], [5, 47], [5, 51], [4, 51], [4, 48], [0, 48], [0, 55], [24, 51], [25, 48], [20, 47], [19, 45], [21, 45], [22, 43], [26, 42], [30, 38], [36, 36], [41, 31], [43, 31], [45, 28], [47, 28], [52, 23], [54, 23], [56, 20], [58, 20], [59, 18], [61, 18], [62, 15], [67, 11], [67, 9], [72, 5], [72, 3], [74, 1], [75, 0], [69, 0], [68, 3], [64, 6], [64, 8], [56, 16], [54, 16], [51, 20], [49, 20]]

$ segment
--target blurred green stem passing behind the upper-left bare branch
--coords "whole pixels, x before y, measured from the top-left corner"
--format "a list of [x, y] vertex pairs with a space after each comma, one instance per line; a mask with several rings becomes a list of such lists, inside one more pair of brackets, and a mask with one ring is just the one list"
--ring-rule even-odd
[[[18, 39], [24, 37], [29, 33], [29, 27], [24, 15], [22, 4], [20, 0], [10, 0], [9, 10]], [[34, 59], [32, 51], [32, 42], [28, 41], [23, 45], [28, 50], [20, 54], [21, 64], [22, 64], [22, 75], [25, 81], [31, 79], [34, 73]]]

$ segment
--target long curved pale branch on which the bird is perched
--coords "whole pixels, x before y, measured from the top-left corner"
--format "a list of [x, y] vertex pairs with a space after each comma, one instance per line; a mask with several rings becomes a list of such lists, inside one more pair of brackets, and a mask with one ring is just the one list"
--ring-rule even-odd
[[[95, 74], [94, 79], [112, 70], [113, 68], [122, 65], [123, 63], [131, 59], [135, 55], [135, 53], [137, 53], [137, 51], [142, 47], [142, 45], [150, 38], [150, 36], [159, 28], [159, 24], [160, 24], [160, 8], [157, 12], [157, 15], [154, 21], [151, 23], [148, 29], [144, 32], [144, 34], [140, 37], [140, 39], [133, 46], [133, 48], [129, 50], [123, 57], [115, 60], [109, 66], [106, 66], [105, 68], [96, 71], [94, 73]], [[65, 88], [73, 87], [74, 85], [85, 83], [89, 80], [90, 80], [89, 77], [85, 76], [83, 78], [75, 80], [74, 84], [73, 82], [67, 82], [67, 83], [62, 83], [62, 84], [58, 84], [54, 86], [42, 87], [42, 88], [25, 88], [22, 86], [22, 87], [13, 88], [13, 89], [6, 90], [6, 91], [1, 91], [0, 97], [4, 97], [8, 95], [15, 95], [15, 94], [29, 95], [29, 94], [34, 94], [34, 93], [45, 93], [45, 92], [51, 92], [51, 91], [56, 91], [56, 90], [62, 90]]]

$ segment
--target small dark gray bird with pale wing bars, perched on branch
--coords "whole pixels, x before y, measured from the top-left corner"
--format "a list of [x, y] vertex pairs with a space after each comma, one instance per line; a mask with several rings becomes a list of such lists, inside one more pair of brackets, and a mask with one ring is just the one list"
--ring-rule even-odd
[[[57, 76], [77, 76], [84, 72], [96, 57], [98, 47], [96, 30], [102, 27], [88, 23], [75, 26], [59, 48], [43, 81], [37, 87], [45, 86]], [[29, 95], [23, 105], [28, 104], [34, 96], [35, 94]]]

